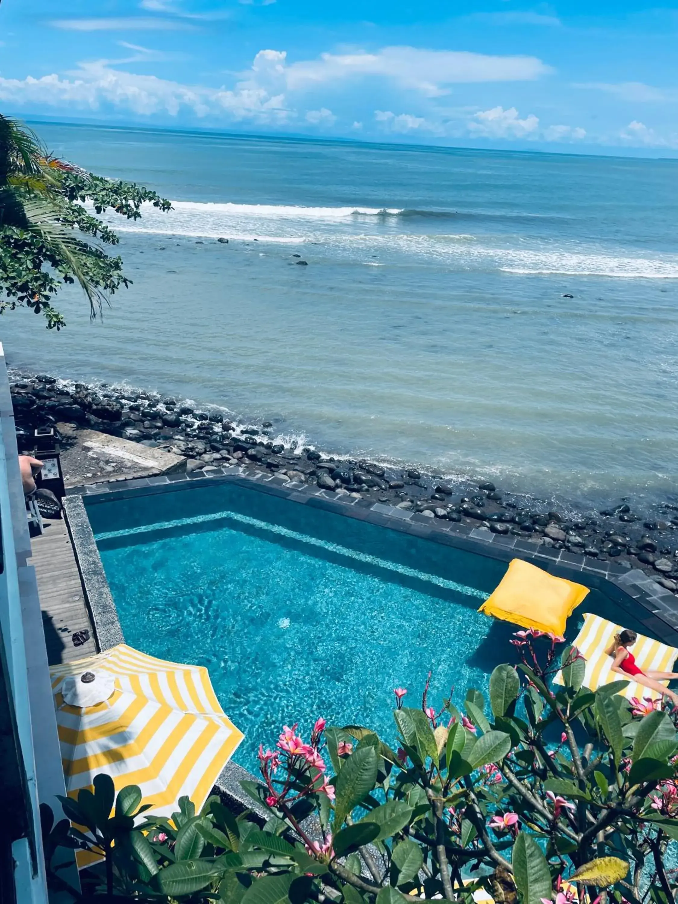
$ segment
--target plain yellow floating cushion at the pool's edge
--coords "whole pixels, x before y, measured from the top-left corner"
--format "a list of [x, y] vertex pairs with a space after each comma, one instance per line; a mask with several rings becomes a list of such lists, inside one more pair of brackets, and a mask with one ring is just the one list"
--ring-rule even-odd
[[588, 587], [513, 559], [497, 589], [478, 611], [513, 625], [563, 636], [568, 617], [588, 593]]

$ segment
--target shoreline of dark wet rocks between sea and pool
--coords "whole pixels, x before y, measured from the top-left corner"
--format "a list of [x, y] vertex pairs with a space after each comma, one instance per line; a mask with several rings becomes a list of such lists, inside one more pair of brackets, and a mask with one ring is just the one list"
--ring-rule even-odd
[[[187, 471], [224, 465], [266, 468], [333, 494], [397, 505], [430, 518], [485, 525], [535, 543], [644, 570], [678, 595], [678, 505], [665, 503], [663, 520], [644, 518], [622, 502], [599, 513], [545, 510], [537, 500], [504, 494], [489, 482], [446, 478], [415, 468], [324, 455], [275, 441], [273, 424], [241, 425], [222, 410], [194, 410], [174, 398], [106, 383], [62, 381], [48, 374], [16, 374], [11, 386], [20, 450], [33, 447], [33, 428], [94, 429], [185, 459]], [[108, 479], [90, 475], [91, 482]]]

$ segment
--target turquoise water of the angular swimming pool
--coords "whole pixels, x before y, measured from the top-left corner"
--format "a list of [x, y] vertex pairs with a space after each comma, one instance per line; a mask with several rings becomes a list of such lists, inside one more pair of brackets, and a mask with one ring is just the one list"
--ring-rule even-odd
[[458, 704], [514, 659], [476, 612], [502, 561], [232, 484], [110, 496], [87, 510], [127, 643], [209, 669], [251, 771], [283, 724], [393, 739], [393, 688], [418, 705], [430, 670], [430, 702]]

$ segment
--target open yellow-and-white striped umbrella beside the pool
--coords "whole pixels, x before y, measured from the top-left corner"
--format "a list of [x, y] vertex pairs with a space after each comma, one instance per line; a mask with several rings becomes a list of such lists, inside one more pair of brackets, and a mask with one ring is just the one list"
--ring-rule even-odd
[[149, 815], [171, 815], [183, 795], [199, 811], [243, 738], [202, 666], [120, 644], [50, 673], [70, 797], [104, 772], [116, 791], [138, 785]]

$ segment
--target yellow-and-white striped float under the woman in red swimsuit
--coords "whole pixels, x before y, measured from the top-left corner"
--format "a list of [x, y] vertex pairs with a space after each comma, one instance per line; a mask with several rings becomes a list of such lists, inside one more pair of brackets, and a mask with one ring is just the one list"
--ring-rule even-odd
[[[596, 691], [602, 684], [627, 679], [628, 687], [624, 691], [620, 691], [626, 700], [630, 700], [632, 697], [637, 697], [638, 700], [642, 700], [643, 697], [656, 699], [659, 697], [659, 692], [651, 691], [643, 684], [632, 681], [630, 675], [620, 675], [612, 671], [612, 656], [608, 656], [605, 651], [612, 645], [615, 635], [619, 634], [622, 627], [608, 622], [606, 618], [593, 616], [589, 612], [584, 613], [584, 626], [572, 642], [586, 659], [584, 686], [591, 691]], [[636, 657], [636, 665], [644, 672], [672, 672], [673, 663], [678, 659], [678, 649], [674, 646], [660, 644], [658, 640], [651, 640], [642, 634], [638, 635], [636, 643], [631, 647], [631, 652]], [[562, 674], [559, 672], [553, 681], [563, 684]], [[668, 685], [668, 682], [662, 683]]]

